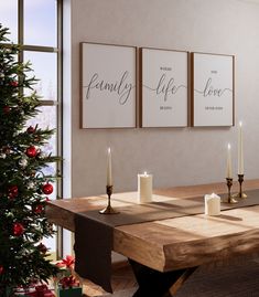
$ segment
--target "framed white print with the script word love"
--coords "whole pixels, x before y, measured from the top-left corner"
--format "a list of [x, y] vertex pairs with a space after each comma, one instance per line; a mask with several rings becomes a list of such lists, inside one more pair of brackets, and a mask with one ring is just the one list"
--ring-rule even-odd
[[192, 126], [234, 125], [234, 56], [192, 53]]

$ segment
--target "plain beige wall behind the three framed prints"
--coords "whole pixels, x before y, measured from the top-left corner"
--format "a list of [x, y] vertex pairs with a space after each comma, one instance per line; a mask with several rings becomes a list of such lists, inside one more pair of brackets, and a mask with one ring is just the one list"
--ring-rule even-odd
[[72, 0], [72, 195], [105, 191], [108, 146], [116, 191], [136, 190], [143, 170], [154, 187], [224, 181], [228, 141], [237, 171], [237, 127], [79, 129], [79, 43], [87, 41], [234, 54], [245, 171], [258, 178], [258, 19], [259, 4], [249, 1]]

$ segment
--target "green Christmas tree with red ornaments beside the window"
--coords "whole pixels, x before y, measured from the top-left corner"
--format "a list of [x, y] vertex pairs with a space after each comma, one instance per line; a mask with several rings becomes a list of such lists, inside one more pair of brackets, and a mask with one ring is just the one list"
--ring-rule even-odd
[[13, 296], [15, 287], [47, 280], [57, 273], [41, 241], [54, 234], [44, 208], [57, 178], [43, 172], [60, 158], [42, 151], [53, 130], [28, 125], [40, 113], [40, 98], [33, 91], [36, 79], [29, 77], [29, 62], [18, 62], [20, 49], [9, 43], [8, 34], [9, 29], [0, 24], [1, 297]]

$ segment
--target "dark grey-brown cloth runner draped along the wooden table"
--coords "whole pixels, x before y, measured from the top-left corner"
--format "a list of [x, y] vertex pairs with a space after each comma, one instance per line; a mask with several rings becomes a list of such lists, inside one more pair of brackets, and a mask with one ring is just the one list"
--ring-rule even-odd
[[[247, 191], [247, 194], [248, 199], [239, 203], [222, 203], [222, 210], [259, 204], [259, 190]], [[105, 215], [95, 210], [75, 215], [75, 271], [110, 293], [114, 227], [204, 213], [204, 197], [117, 209], [119, 214]]]

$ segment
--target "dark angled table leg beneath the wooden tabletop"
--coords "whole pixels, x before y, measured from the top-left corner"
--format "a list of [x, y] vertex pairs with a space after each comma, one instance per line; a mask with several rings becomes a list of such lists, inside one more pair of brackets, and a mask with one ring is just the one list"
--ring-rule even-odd
[[161, 273], [132, 259], [129, 259], [129, 263], [139, 285], [132, 297], [171, 297], [171, 293], [175, 294], [184, 280], [196, 269], [193, 267]]

